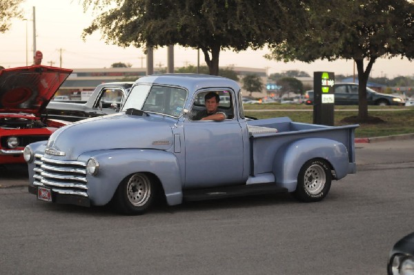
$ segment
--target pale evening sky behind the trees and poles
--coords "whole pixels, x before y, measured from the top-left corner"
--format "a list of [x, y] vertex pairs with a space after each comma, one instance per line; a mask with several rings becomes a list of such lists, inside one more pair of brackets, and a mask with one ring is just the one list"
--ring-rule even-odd
[[[43, 65], [79, 69], [110, 68], [112, 63], [132, 64], [132, 68], [145, 68], [146, 55], [140, 48], [121, 48], [107, 45], [101, 34], [95, 32], [81, 39], [84, 28], [90, 26], [94, 14], [83, 12], [79, 0], [26, 0], [21, 5], [26, 21], [12, 20], [10, 30], [0, 34], [0, 65], [13, 68], [32, 64], [33, 60], [33, 7], [35, 9], [36, 49], [43, 52]], [[26, 54], [27, 52], [27, 54]], [[286, 70], [300, 70], [313, 76], [315, 71], [328, 71], [335, 74], [353, 75], [353, 61], [315, 61], [313, 63], [269, 61], [264, 54], [269, 50], [221, 51], [219, 65], [266, 69], [268, 74]], [[27, 58], [26, 58], [27, 56]], [[175, 67], [197, 65], [197, 50], [176, 45], [174, 50]], [[154, 67], [166, 68], [167, 50], [154, 51]], [[206, 65], [200, 52], [200, 65]], [[355, 68], [355, 73], [356, 68]], [[371, 77], [414, 77], [414, 62], [400, 57], [379, 59], [373, 65]]]

